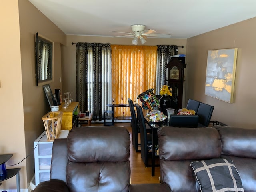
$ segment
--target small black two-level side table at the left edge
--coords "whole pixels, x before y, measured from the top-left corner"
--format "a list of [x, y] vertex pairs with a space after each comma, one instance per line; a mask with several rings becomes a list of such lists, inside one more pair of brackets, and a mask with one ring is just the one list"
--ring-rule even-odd
[[[6, 161], [8, 161], [12, 157], [12, 154], [3, 154], [0, 155], [0, 166], [2, 164], [5, 164]], [[17, 186], [17, 191], [20, 192], [20, 168], [15, 168], [15, 169], [6, 169], [6, 173], [3, 173], [0, 176], [0, 182], [10, 179], [13, 176], [16, 175], [16, 186]]]

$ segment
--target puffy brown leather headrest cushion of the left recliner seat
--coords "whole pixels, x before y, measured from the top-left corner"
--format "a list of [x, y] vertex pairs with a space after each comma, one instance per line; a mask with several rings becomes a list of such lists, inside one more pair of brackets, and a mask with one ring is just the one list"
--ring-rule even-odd
[[130, 156], [130, 134], [121, 126], [76, 127], [67, 146], [72, 162], [124, 162]]

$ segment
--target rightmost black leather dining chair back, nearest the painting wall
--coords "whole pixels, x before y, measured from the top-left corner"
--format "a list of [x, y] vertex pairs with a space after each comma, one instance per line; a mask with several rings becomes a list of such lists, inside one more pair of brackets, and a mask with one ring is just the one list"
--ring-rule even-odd
[[214, 109], [214, 106], [200, 102], [198, 111], [196, 113], [199, 116], [198, 127], [208, 127], [209, 126], [213, 109]]

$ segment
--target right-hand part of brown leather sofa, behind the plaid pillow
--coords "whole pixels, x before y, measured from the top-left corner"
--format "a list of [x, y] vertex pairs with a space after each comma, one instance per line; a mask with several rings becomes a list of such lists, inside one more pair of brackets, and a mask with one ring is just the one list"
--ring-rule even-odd
[[225, 158], [236, 166], [244, 192], [256, 192], [256, 130], [228, 126], [158, 129], [160, 180], [171, 192], [199, 192], [190, 163]]

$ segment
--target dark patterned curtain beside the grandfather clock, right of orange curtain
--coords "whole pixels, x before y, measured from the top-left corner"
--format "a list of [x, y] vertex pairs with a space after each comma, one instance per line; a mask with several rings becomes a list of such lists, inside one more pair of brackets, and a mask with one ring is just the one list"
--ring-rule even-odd
[[166, 64], [170, 61], [170, 56], [176, 54], [178, 54], [176, 45], [157, 45], [156, 95], [159, 95], [161, 86], [166, 84]]

